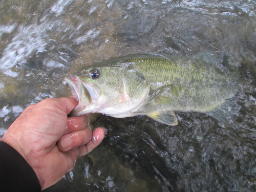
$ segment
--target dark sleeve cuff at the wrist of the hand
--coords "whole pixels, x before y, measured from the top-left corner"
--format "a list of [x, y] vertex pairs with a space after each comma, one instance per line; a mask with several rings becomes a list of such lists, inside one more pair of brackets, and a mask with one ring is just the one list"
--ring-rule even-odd
[[22, 155], [3, 141], [0, 141], [0, 191], [41, 191], [32, 167]]

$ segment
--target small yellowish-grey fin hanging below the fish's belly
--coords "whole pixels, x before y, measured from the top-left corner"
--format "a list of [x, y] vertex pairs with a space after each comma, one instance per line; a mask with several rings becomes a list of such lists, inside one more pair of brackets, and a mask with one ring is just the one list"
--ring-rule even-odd
[[147, 114], [147, 116], [151, 117], [152, 119], [160, 123], [164, 123], [167, 125], [174, 126], [178, 124], [178, 120], [174, 111], [154, 112]]

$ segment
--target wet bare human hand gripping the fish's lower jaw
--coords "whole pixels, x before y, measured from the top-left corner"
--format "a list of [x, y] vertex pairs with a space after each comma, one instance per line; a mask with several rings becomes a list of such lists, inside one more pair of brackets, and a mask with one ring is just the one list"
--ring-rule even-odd
[[92, 134], [86, 116], [67, 117], [77, 104], [73, 98], [60, 98], [30, 105], [1, 139], [34, 169], [41, 190], [59, 181], [104, 138], [101, 127]]

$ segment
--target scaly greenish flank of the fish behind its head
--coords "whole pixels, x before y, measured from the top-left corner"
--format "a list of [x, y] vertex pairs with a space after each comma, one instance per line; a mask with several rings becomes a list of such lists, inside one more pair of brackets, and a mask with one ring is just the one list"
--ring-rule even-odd
[[[230, 79], [225, 72], [217, 72], [212, 63], [205, 65], [205, 62], [196, 63], [184, 59], [176, 59], [176, 62], [172, 62], [164, 58], [129, 59], [128, 62], [134, 62], [135, 69], [144, 75], [153, 92], [163, 86], [175, 85], [173, 88], [169, 87], [169, 90], [162, 95], [166, 99], [158, 100], [166, 104], [165, 109], [172, 106], [175, 111], [206, 112], [237, 92], [237, 89], [226, 83], [234, 77]], [[183, 89], [179, 89], [181, 86]], [[219, 92], [222, 94], [220, 95]]]

